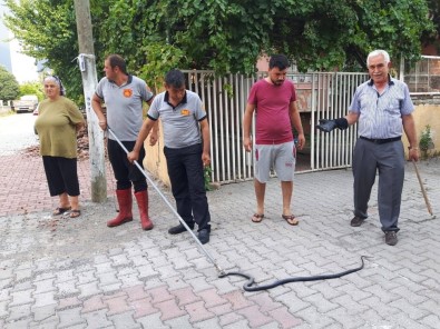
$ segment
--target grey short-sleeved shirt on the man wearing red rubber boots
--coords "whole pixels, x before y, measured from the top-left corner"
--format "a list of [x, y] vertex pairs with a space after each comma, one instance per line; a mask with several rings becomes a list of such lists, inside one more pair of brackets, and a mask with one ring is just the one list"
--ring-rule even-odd
[[[143, 126], [143, 101], [149, 101], [154, 96], [147, 83], [128, 76], [126, 83], [118, 86], [102, 78], [96, 88], [96, 94], [104, 100], [107, 108], [107, 124], [119, 140], [134, 141]], [[113, 136], [109, 136], [114, 139]]]

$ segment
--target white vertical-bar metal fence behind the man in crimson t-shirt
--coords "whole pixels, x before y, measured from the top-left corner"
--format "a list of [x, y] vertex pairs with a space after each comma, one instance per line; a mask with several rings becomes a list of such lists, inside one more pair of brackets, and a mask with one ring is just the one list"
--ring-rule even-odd
[[[217, 78], [213, 71], [185, 70], [187, 88], [197, 92], [207, 111], [211, 129], [212, 180], [235, 182], [253, 178], [253, 153], [243, 148], [243, 116], [254, 77], [229, 74]], [[356, 126], [331, 133], [316, 132], [320, 119], [345, 116], [355, 87], [365, 73], [289, 73], [295, 82], [307, 150], [299, 154], [297, 171], [351, 167]], [[255, 120], [253, 120], [255, 122]], [[253, 129], [254, 131], [254, 129]], [[255, 138], [254, 138], [255, 140]], [[302, 158], [302, 159], [300, 159]]]

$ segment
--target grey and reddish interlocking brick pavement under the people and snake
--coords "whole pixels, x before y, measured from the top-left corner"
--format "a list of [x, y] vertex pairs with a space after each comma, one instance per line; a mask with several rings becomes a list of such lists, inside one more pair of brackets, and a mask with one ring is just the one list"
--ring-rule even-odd
[[[427, 212], [411, 163], [402, 196], [399, 243], [384, 243], [377, 189], [370, 218], [350, 227], [350, 170], [299, 173], [293, 211], [281, 218], [276, 179], [267, 183], [265, 219], [252, 223], [253, 183], [208, 192], [217, 265], [252, 275], [260, 285], [287, 277], [359, 272], [246, 292], [239, 277], [218, 278], [188, 233], [150, 189], [151, 231], [138, 219], [107, 228], [108, 200], [90, 201], [89, 162], [78, 163], [82, 213], [51, 217], [41, 159], [1, 157], [0, 328], [438, 328], [440, 218]], [[411, 166], [410, 166], [411, 164]], [[14, 170], [11, 170], [13, 168]], [[432, 209], [440, 209], [440, 160], [419, 164]], [[17, 173], [19, 172], [19, 173]], [[108, 175], [110, 171], [108, 170]], [[164, 196], [174, 205], [168, 189]], [[137, 211], [135, 217], [137, 218]]]

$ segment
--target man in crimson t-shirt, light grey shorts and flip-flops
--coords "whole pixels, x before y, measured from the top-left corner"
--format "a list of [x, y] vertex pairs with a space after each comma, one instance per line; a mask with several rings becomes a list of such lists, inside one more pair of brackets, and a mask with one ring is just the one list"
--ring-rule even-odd
[[243, 144], [252, 150], [251, 127], [255, 111], [255, 172], [254, 187], [256, 212], [253, 222], [264, 218], [264, 193], [270, 179], [271, 167], [281, 180], [283, 195], [282, 218], [290, 225], [299, 221], [291, 211], [293, 176], [295, 172], [296, 147], [292, 127], [297, 131], [297, 148], [304, 147], [305, 139], [296, 106], [295, 87], [286, 80], [289, 60], [284, 54], [274, 54], [268, 62], [266, 78], [252, 86], [243, 120]]

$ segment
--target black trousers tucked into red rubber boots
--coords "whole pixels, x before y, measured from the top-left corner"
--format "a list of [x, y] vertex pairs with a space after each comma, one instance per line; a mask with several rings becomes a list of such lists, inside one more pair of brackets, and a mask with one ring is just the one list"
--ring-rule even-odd
[[[133, 151], [136, 141], [121, 141], [128, 151]], [[131, 182], [135, 187], [135, 192], [145, 191], [148, 188], [147, 180], [144, 173], [136, 167], [131, 164], [127, 159], [127, 153], [118, 144], [117, 141], [108, 139], [107, 144], [108, 159], [110, 160], [111, 168], [116, 178], [116, 189], [126, 190], [131, 188]], [[144, 148], [139, 151], [139, 159], [137, 160], [140, 167], [144, 168], [143, 161], [145, 158]]]

